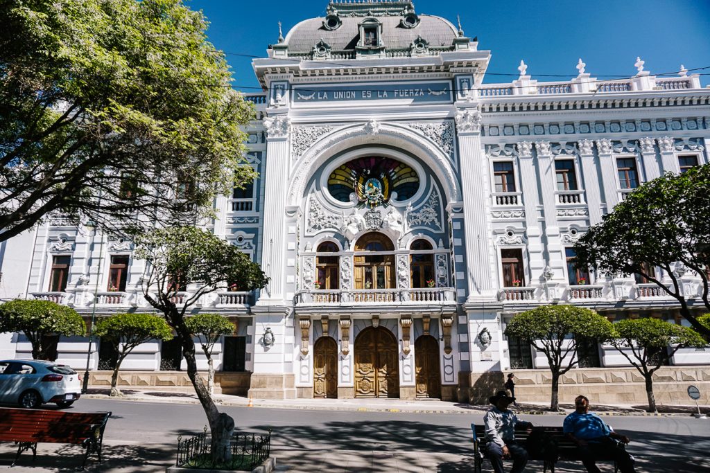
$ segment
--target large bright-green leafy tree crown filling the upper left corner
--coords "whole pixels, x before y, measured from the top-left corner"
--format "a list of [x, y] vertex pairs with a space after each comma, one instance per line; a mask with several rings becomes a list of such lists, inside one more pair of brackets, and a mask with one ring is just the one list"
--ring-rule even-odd
[[123, 234], [195, 221], [253, 180], [239, 129], [253, 106], [201, 12], [9, 0], [0, 19], [0, 241], [48, 213]]

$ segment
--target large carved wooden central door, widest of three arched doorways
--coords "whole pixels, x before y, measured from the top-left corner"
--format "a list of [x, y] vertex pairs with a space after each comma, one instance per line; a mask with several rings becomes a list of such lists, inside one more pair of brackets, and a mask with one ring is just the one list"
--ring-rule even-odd
[[399, 360], [395, 336], [368, 327], [355, 339], [355, 397], [399, 397]]

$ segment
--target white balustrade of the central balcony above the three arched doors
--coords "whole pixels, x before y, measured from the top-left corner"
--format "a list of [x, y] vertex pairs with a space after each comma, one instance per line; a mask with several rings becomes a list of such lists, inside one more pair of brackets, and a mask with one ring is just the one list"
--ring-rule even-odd
[[296, 304], [454, 304], [456, 289], [315, 289], [296, 294]]

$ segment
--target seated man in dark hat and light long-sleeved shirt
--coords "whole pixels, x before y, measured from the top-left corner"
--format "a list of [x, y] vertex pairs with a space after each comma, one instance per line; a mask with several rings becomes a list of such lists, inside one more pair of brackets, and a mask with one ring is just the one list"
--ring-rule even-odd
[[510, 473], [521, 473], [528, 463], [528, 451], [522, 445], [515, 443], [515, 425], [528, 425], [530, 422], [518, 422], [518, 417], [508, 411], [508, 405], [515, 401], [506, 391], [498, 391], [488, 401], [493, 407], [484, 416], [486, 440], [488, 440], [488, 458], [496, 473], [503, 473], [503, 458], [513, 458], [513, 469]]

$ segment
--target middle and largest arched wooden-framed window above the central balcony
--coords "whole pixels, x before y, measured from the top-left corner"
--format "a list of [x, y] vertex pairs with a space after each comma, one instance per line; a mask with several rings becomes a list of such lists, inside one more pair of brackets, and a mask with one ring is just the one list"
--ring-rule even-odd
[[355, 244], [355, 289], [394, 289], [395, 255], [388, 254], [393, 251], [385, 235], [362, 235]]

